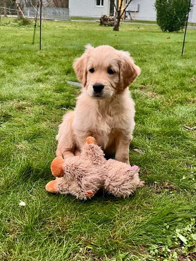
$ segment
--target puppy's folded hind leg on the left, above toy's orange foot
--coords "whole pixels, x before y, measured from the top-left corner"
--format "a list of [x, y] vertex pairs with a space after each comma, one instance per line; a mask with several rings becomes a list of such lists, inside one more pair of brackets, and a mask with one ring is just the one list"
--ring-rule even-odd
[[73, 118], [74, 112], [69, 112], [63, 116], [63, 122], [59, 125], [58, 141], [56, 156], [63, 157], [64, 159], [74, 156], [75, 140], [73, 134]]

